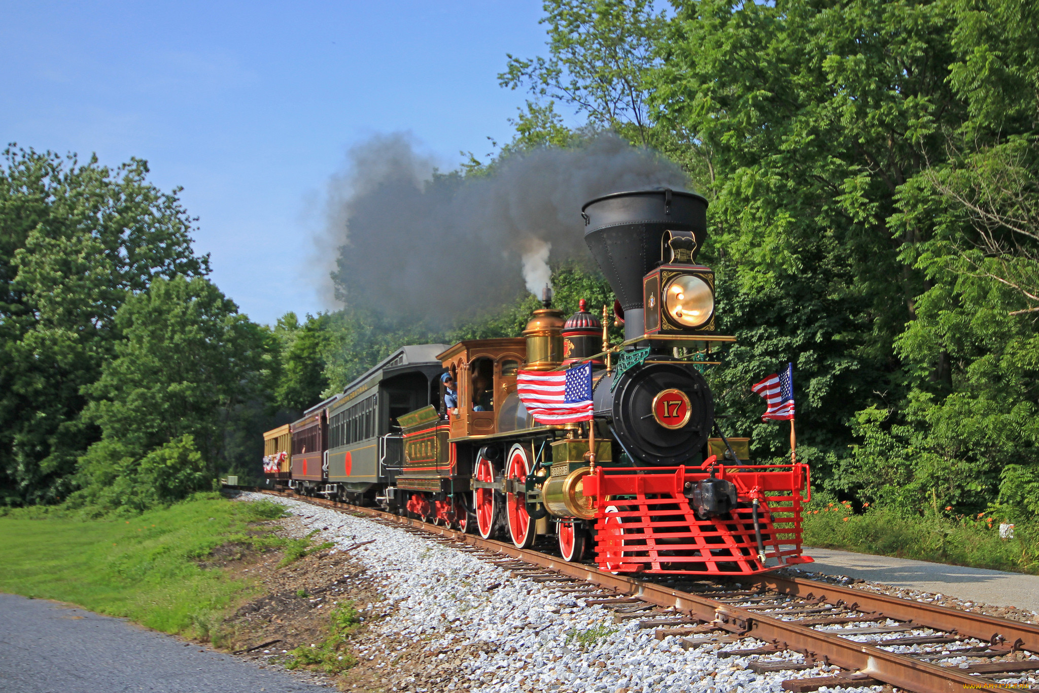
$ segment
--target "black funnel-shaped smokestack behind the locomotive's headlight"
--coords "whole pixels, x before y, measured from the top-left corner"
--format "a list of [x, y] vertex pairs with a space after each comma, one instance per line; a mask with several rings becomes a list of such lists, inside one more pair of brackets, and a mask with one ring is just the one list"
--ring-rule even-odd
[[581, 208], [585, 242], [624, 310], [625, 340], [643, 334], [642, 277], [663, 261], [664, 232], [691, 232], [699, 250], [708, 235], [707, 212], [700, 195], [666, 188], [615, 192]]

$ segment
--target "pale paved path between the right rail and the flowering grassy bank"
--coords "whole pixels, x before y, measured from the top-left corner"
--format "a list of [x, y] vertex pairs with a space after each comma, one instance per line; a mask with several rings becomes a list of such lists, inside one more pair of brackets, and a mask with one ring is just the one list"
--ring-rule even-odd
[[998, 607], [1039, 611], [1039, 576], [855, 554], [833, 549], [805, 548], [804, 553], [816, 559], [815, 563], [801, 566], [805, 570], [851, 576], [925, 592], [940, 592]]

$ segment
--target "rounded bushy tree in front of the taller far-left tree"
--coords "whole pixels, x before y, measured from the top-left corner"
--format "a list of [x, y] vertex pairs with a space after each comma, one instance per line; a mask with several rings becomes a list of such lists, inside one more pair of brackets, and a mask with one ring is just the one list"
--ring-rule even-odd
[[115, 358], [84, 388], [84, 418], [103, 431], [95, 445], [139, 460], [189, 435], [215, 478], [236, 408], [270, 385], [269, 334], [202, 277], [155, 279], [115, 322]]

